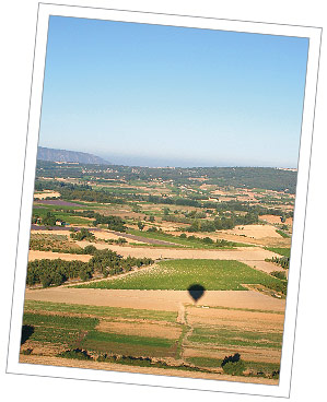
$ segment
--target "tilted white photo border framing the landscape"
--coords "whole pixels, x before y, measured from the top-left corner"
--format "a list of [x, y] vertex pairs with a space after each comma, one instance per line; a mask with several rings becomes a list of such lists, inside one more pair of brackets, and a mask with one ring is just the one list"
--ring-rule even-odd
[[[290, 263], [281, 370], [278, 386], [19, 363], [33, 204], [32, 200], [34, 192], [35, 165], [42, 111], [48, 21], [50, 15], [232, 31], [243, 33], [257, 33], [265, 35], [306, 37], [310, 39], [305, 96], [302, 116], [301, 146], [297, 166], [299, 170], [291, 251], [292, 259]], [[25, 151], [25, 168], [21, 200], [21, 216], [19, 226], [19, 241], [13, 287], [10, 339], [8, 346], [7, 373], [60, 377], [67, 379], [108, 381], [117, 383], [147, 385], [178, 389], [233, 392], [238, 394], [283, 398], [290, 397], [292, 358], [296, 327], [296, 310], [299, 302], [299, 286], [301, 277], [302, 247], [305, 229], [305, 211], [310, 176], [311, 146], [314, 129], [315, 98], [319, 67], [320, 36], [320, 27], [39, 3], [34, 50], [35, 54], [32, 91], [30, 99], [28, 130]]]

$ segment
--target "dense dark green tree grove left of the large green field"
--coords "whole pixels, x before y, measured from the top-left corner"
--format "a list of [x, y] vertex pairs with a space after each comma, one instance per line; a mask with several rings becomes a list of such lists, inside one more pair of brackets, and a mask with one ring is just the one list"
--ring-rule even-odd
[[40, 283], [43, 287], [48, 287], [50, 285], [61, 285], [69, 279], [87, 281], [94, 272], [98, 272], [106, 277], [128, 272], [135, 267], [140, 268], [153, 263], [151, 258], [122, 258], [112, 250], [96, 250], [94, 246], [89, 247], [87, 253], [93, 255], [89, 262], [63, 261], [60, 259], [30, 261], [27, 264], [27, 285], [32, 286]]

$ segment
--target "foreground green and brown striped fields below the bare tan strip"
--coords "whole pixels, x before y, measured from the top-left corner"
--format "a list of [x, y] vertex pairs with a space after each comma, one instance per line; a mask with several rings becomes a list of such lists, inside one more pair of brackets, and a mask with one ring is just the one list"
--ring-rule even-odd
[[[200, 311], [186, 304], [185, 320], [180, 321], [180, 315], [170, 311], [26, 300], [21, 360], [34, 362], [42, 354], [44, 364], [58, 364], [67, 356], [79, 360], [79, 367], [83, 367], [80, 359], [85, 359], [118, 367], [127, 364], [135, 369], [148, 367], [145, 373], [162, 368], [166, 375], [182, 370], [186, 376], [202, 373], [205, 378], [223, 378], [224, 353], [236, 345], [246, 356], [244, 380], [261, 382], [265, 378], [267, 383], [276, 383], [283, 315], [245, 309], [242, 318], [237, 309], [219, 308], [207, 309], [202, 317]], [[212, 324], [210, 314], [217, 312], [222, 312], [223, 326]], [[250, 316], [256, 328], [244, 331], [242, 326]], [[266, 316], [268, 322], [275, 322], [272, 332], [262, 331], [265, 322], [260, 321]], [[266, 354], [261, 362], [257, 360], [258, 350], [259, 355]]]

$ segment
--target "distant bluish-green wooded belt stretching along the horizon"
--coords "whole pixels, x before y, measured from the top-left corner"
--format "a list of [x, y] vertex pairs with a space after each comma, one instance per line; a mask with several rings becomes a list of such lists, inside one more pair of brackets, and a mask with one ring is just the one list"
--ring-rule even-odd
[[[93, 165], [94, 166], [94, 165]], [[93, 167], [94, 169], [94, 167]], [[85, 170], [89, 172], [85, 174]], [[92, 177], [92, 165], [58, 165], [52, 162], [38, 161], [36, 173], [43, 177]], [[194, 167], [194, 168], [151, 168], [151, 167], [129, 167], [112, 165], [96, 166], [96, 177], [114, 178], [116, 180], [173, 180], [174, 184], [191, 184], [192, 178], [203, 177], [207, 184], [219, 186], [234, 186], [245, 188], [260, 188], [267, 190], [295, 193], [296, 172], [281, 170], [271, 167]]]

